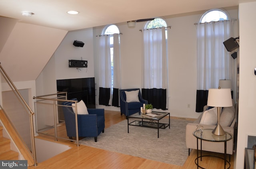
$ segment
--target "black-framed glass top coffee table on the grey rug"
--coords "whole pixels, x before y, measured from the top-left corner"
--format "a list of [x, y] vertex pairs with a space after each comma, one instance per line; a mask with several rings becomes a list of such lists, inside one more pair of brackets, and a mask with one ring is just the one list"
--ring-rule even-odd
[[[146, 117], [142, 116], [140, 112], [132, 114], [131, 116], [127, 116], [127, 129], [129, 133], [129, 126], [139, 126], [139, 127], [147, 127], [147, 128], [156, 128], [157, 129], [157, 138], [159, 138], [159, 129], [165, 129], [169, 126], [170, 128], [170, 113], [163, 112], [152, 112], [152, 114], [156, 114], [155, 117]], [[159, 121], [169, 115], [169, 124], [160, 123]], [[138, 120], [134, 120], [129, 123], [129, 118], [137, 118]]]

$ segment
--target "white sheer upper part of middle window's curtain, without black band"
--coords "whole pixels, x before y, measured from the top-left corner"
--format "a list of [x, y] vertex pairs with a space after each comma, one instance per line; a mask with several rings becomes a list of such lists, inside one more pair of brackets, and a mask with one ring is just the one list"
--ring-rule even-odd
[[142, 87], [168, 87], [165, 28], [143, 30]]

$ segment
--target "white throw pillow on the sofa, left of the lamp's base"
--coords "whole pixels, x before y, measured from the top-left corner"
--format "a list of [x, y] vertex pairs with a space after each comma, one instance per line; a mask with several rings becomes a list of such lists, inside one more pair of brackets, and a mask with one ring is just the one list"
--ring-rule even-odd
[[203, 112], [200, 124], [216, 125], [218, 122], [217, 107], [211, 108]]

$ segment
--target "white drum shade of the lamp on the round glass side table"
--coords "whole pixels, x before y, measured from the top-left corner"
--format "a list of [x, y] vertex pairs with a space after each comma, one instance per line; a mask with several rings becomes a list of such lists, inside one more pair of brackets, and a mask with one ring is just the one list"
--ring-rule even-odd
[[208, 90], [207, 106], [230, 107], [232, 106], [230, 88], [210, 88]]

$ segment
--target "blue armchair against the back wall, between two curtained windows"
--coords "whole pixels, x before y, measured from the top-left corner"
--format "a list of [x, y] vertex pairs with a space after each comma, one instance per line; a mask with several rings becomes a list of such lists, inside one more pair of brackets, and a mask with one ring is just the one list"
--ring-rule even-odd
[[[126, 102], [126, 93], [125, 91], [134, 91], [139, 90], [138, 92], [138, 100], [140, 102]], [[140, 107], [143, 106], [143, 104], [148, 104], [147, 100], [144, 100], [141, 96], [140, 89], [139, 88], [131, 88], [131, 89], [120, 89], [120, 111], [121, 115], [125, 114], [126, 118], [127, 116], [130, 116], [136, 112], [140, 112]]]

